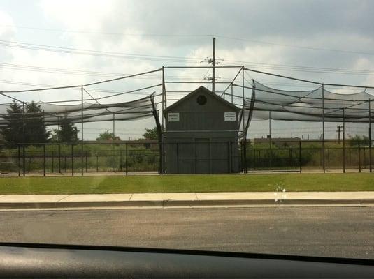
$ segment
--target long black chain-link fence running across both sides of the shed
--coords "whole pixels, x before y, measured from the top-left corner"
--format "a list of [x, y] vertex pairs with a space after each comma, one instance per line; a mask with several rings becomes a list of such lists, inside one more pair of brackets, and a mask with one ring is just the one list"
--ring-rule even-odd
[[156, 141], [0, 144], [0, 175], [369, 172], [373, 155], [367, 141], [349, 140], [164, 143], [164, 160]]

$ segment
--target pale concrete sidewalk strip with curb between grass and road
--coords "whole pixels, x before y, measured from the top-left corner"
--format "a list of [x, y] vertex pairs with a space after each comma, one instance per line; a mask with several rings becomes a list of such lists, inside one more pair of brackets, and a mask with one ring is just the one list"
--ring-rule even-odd
[[89, 207], [374, 205], [374, 192], [134, 193], [2, 195], [0, 209]]

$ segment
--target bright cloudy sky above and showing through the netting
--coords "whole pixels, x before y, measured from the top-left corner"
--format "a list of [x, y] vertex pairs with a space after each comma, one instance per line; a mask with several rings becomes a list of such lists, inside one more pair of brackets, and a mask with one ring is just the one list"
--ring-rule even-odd
[[[374, 86], [373, 14], [374, 1], [352, 0], [0, 0], [0, 91], [85, 84], [161, 66], [206, 66], [213, 35], [222, 66], [245, 65], [318, 82]], [[166, 69], [169, 81], [203, 82], [209, 75], [206, 69]], [[235, 70], [217, 71], [218, 81], [233, 75]], [[159, 78], [156, 73], [101, 89], [131, 90], [159, 84]], [[264, 75], [247, 78], [282, 89], [311, 88]], [[170, 91], [194, 87], [196, 84], [168, 84]], [[147, 93], [151, 92], [115, 101], [134, 100]], [[95, 91], [94, 96], [103, 94]], [[172, 102], [183, 94], [171, 93], [169, 98]], [[76, 91], [13, 96], [24, 100], [80, 97]], [[8, 102], [6, 98], [0, 101]], [[145, 127], [152, 126], [152, 119], [116, 123], [123, 139], [139, 137]], [[85, 139], [111, 127], [111, 123], [89, 123]], [[300, 133], [289, 124], [285, 127], [282, 123], [273, 126], [274, 135], [319, 135], [319, 126], [314, 124], [303, 126]], [[266, 135], [261, 123], [253, 123], [251, 128], [251, 137]], [[348, 128], [352, 133], [361, 129], [353, 124]], [[327, 130], [334, 137], [336, 123]]]

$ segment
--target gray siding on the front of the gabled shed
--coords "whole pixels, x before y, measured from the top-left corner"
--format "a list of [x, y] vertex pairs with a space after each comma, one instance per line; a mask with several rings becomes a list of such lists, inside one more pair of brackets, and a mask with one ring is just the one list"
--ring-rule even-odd
[[[199, 88], [166, 110], [168, 174], [228, 173], [240, 169], [238, 109], [207, 90]], [[205, 105], [196, 102], [201, 95], [206, 96]], [[224, 121], [225, 112], [235, 112], [236, 121]], [[179, 113], [179, 121], [169, 122], [167, 113]]]

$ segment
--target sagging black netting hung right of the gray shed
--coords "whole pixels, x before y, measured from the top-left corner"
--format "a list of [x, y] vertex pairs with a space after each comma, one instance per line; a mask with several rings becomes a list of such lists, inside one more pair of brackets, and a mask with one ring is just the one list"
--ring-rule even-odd
[[[285, 91], [253, 82], [251, 98], [245, 109], [254, 119], [339, 122], [369, 121], [369, 103], [374, 98], [366, 91], [354, 94], [333, 93], [320, 86], [310, 91]], [[322, 98], [323, 97], [323, 98]], [[373, 121], [373, 116], [371, 116]]]

